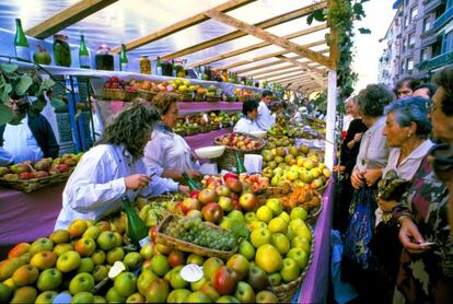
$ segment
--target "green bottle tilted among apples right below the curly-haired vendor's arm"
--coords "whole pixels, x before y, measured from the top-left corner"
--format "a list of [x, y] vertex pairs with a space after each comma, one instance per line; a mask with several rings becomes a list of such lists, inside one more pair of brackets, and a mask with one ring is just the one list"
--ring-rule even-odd
[[123, 196], [121, 200], [127, 217], [128, 236], [137, 248], [141, 248], [150, 243], [150, 237], [148, 236], [149, 229], [130, 204], [129, 198]]

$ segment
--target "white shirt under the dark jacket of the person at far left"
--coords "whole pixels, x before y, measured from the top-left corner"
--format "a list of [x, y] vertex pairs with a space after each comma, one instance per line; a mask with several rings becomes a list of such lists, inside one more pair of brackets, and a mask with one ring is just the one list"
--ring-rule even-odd
[[44, 157], [43, 150], [37, 144], [28, 127], [27, 115], [25, 115], [19, 125], [7, 124], [3, 140], [3, 149], [13, 155], [14, 164], [24, 161], [36, 162]]

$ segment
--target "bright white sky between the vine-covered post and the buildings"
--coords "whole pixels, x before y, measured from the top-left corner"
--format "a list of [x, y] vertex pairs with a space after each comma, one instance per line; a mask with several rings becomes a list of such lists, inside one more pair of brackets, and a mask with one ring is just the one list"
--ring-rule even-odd
[[355, 28], [367, 27], [371, 35], [356, 34], [356, 57], [353, 70], [359, 74], [356, 93], [369, 83], [378, 82], [379, 58], [384, 45], [379, 39], [385, 36], [396, 10], [392, 9], [395, 0], [371, 0], [363, 3], [367, 16], [355, 23]]

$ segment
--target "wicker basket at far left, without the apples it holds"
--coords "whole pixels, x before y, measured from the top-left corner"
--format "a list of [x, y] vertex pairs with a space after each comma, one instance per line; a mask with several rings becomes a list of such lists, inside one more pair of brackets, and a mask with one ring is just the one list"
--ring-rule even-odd
[[68, 180], [72, 171], [73, 168], [65, 173], [50, 175], [50, 176], [46, 176], [42, 178], [19, 179], [14, 182], [0, 178], [0, 185], [30, 194], [30, 192], [37, 191], [45, 187], [65, 183], [66, 180]]

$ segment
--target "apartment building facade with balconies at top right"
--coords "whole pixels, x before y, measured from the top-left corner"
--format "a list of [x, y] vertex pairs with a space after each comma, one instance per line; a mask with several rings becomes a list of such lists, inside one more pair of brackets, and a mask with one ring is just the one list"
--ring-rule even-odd
[[[433, 69], [443, 66], [452, 37], [448, 35], [451, 15], [445, 14], [453, 0], [397, 0], [394, 20], [383, 38], [386, 43], [380, 59], [380, 81], [393, 86], [407, 77], [429, 80]], [[439, 22], [441, 20], [441, 22]], [[449, 25], [450, 24], [450, 25]], [[446, 30], [445, 30], [446, 27]], [[449, 47], [449, 44], [452, 45]], [[388, 56], [390, 54], [390, 56]], [[385, 60], [388, 58], [390, 63]], [[435, 60], [434, 60], [435, 59]], [[453, 58], [452, 58], [453, 59]]]

